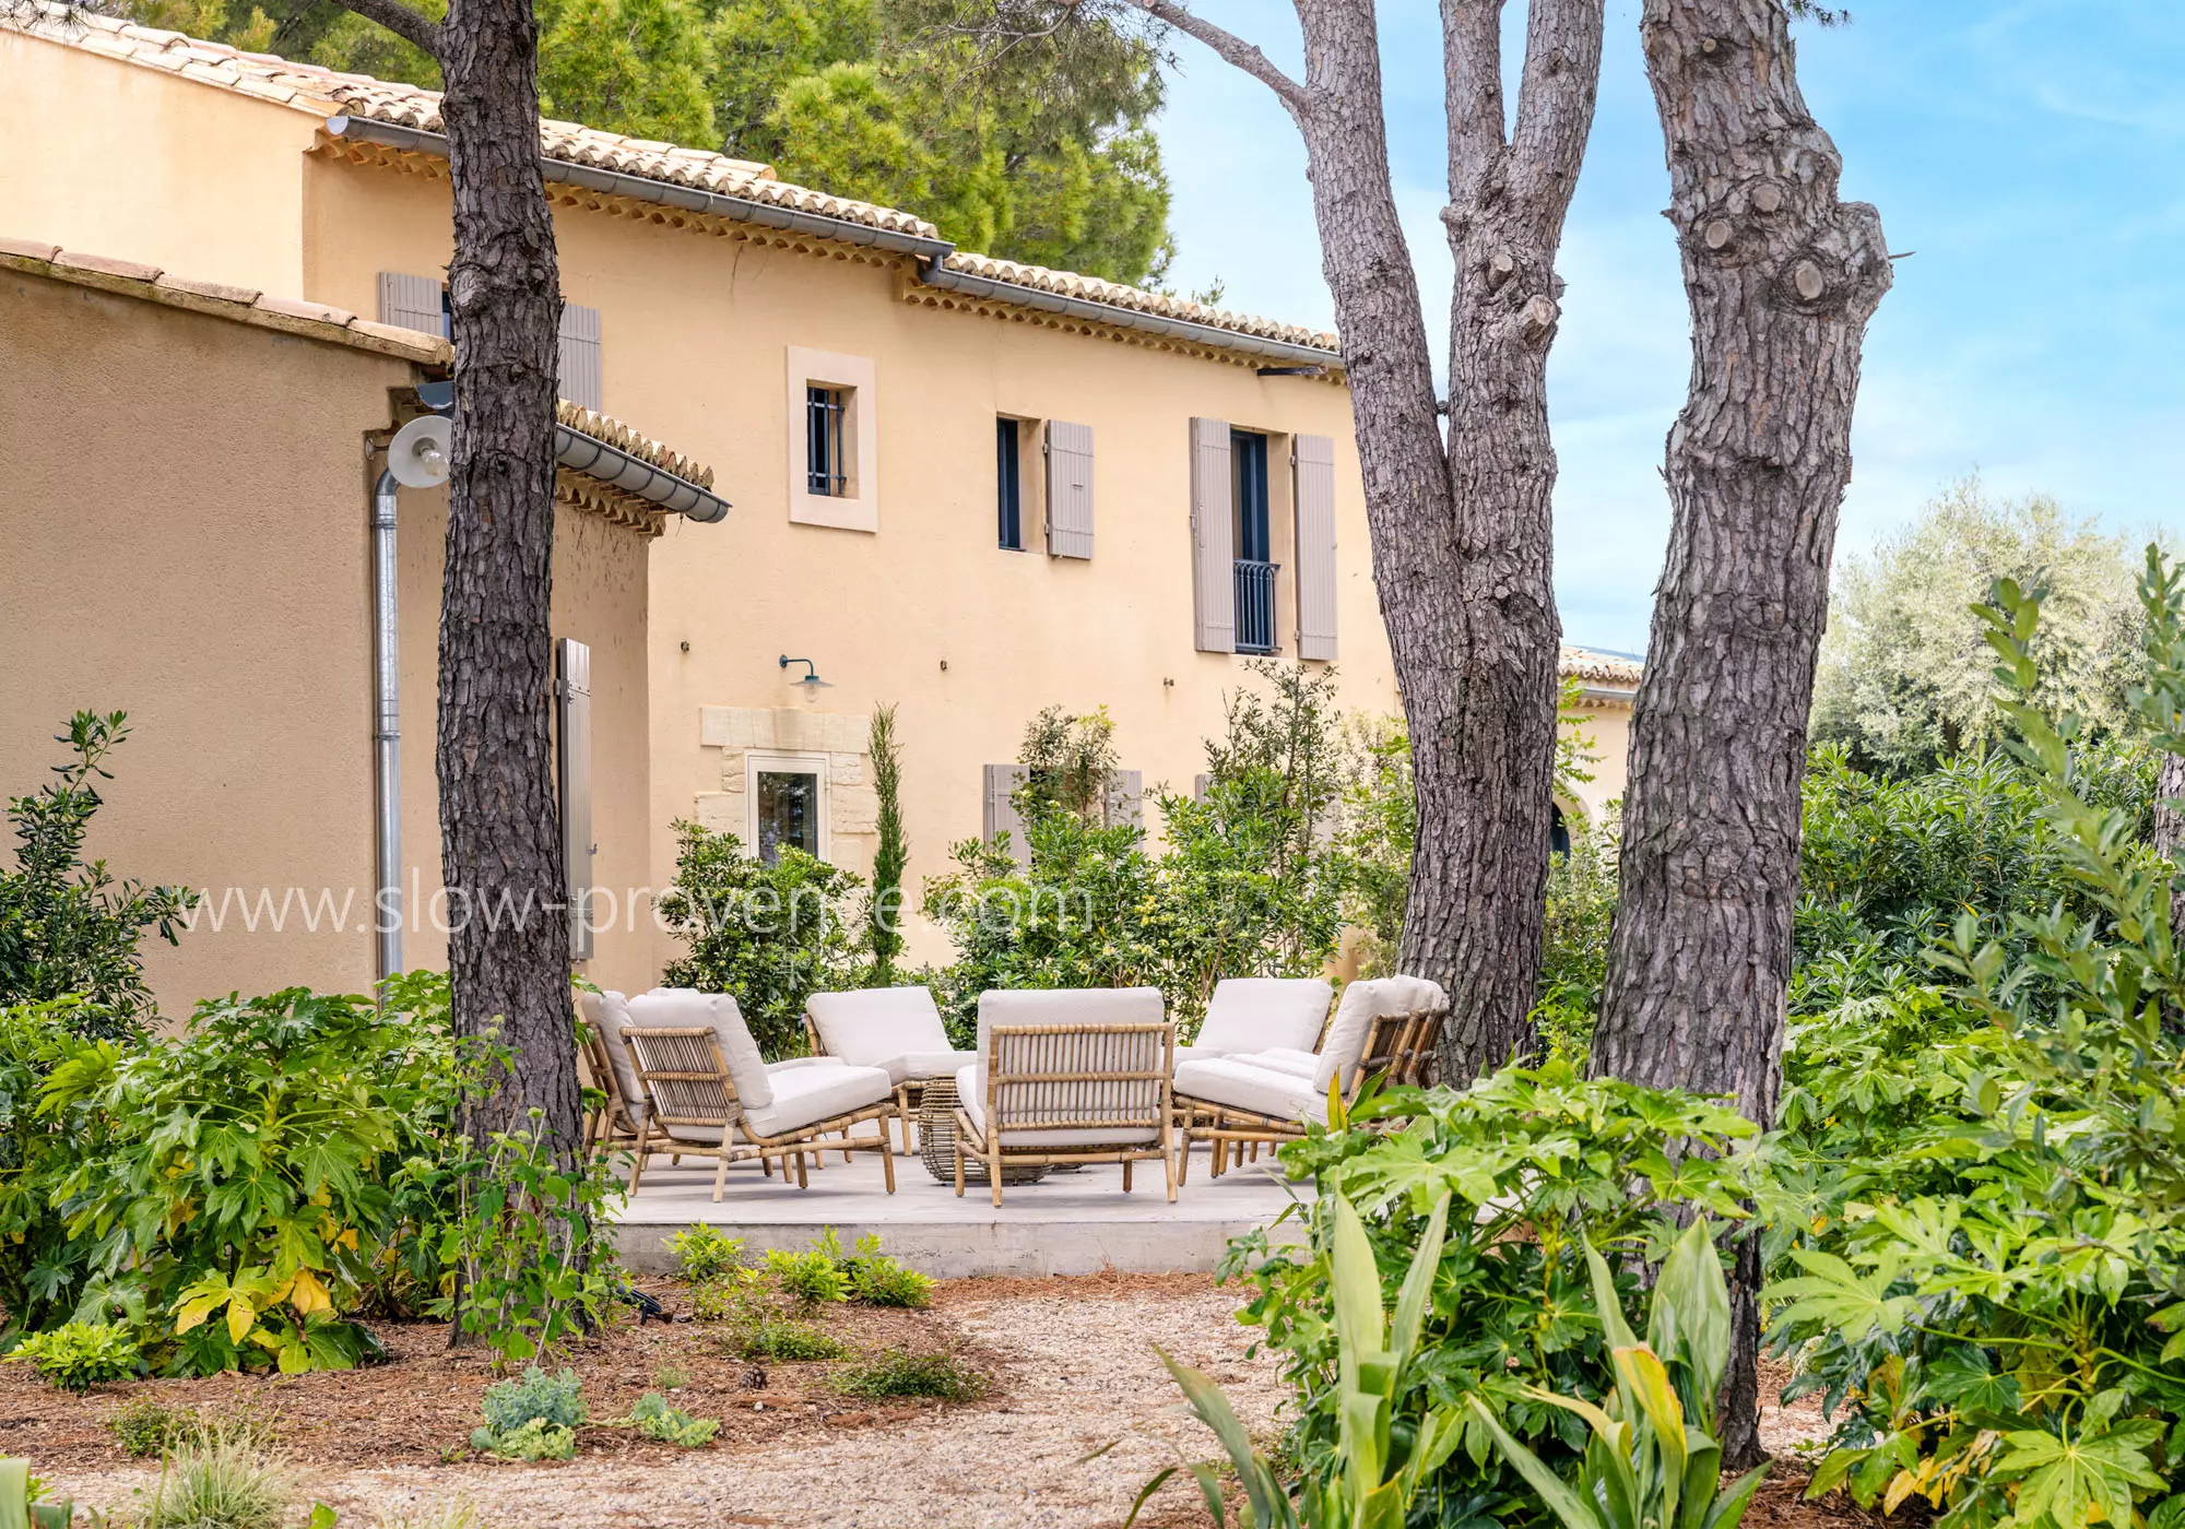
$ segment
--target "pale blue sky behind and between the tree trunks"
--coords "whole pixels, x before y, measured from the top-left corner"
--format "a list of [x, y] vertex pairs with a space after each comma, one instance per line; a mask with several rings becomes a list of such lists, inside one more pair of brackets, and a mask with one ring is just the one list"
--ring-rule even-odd
[[[1287, 66], [1278, 0], [1202, 0]], [[1446, 332], [1440, 33], [1385, 2], [1396, 194]], [[2185, 526], [2185, 4], [1851, 0], [1803, 26], [1807, 103], [1844, 153], [1844, 194], [1881, 208], [1897, 286], [1866, 334], [1838, 550], [1870, 546], [1951, 478], [2054, 494], [2143, 531]], [[1510, 4], [1512, 26], [1523, 0]], [[1669, 509], [1663, 435], [1689, 371], [1667, 175], [1639, 59], [1639, 4], [1610, 0], [1593, 142], [1560, 271], [1549, 367], [1556, 588], [1573, 642], [1643, 649]], [[1512, 46], [1516, 37], [1512, 37]], [[1296, 129], [1263, 85], [1178, 39], [1162, 144], [1176, 291], [1333, 323]]]

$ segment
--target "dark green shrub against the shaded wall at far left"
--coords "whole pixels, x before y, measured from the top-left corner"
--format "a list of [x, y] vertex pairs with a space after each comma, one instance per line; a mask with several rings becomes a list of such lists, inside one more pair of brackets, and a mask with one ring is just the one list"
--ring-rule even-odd
[[76, 712], [57, 738], [74, 758], [7, 804], [15, 865], [0, 867], [0, 1007], [76, 996], [74, 1027], [107, 1040], [142, 1038], [155, 1018], [138, 944], [149, 931], [179, 944], [197, 902], [181, 887], [116, 882], [105, 861], [83, 858], [107, 756], [127, 740], [125, 712]]

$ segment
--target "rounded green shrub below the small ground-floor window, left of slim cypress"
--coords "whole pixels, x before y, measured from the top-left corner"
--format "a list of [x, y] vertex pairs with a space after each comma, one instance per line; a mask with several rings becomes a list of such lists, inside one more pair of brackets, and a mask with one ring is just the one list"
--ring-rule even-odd
[[734, 834], [675, 823], [675, 885], [660, 920], [690, 946], [666, 963], [669, 987], [736, 994], [752, 1040], [769, 1057], [804, 1053], [804, 1000], [852, 985], [857, 876], [784, 845], [773, 863]]

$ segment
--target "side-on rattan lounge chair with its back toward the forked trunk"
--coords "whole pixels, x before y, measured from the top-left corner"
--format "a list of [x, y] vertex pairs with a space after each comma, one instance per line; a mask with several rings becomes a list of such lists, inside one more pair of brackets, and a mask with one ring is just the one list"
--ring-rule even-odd
[[[1189, 1173], [1191, 1142], [1213, 1145], [1219, 1177], [1232, 1151], [1276, 1145], [1328, 1123], [1328, 1090], [1348, 1103], [1366, 1079], [1431, 1083], [1446, 994], [1420, 976], [1381, 976], [1344, 987], [1335, 1022], [1318, 1053], [1274, 1048], [1202, 1057], [1176, 1068], [1178, 1173]], [[1241, 1160], [1241, 1158], [1239, 1158]]]

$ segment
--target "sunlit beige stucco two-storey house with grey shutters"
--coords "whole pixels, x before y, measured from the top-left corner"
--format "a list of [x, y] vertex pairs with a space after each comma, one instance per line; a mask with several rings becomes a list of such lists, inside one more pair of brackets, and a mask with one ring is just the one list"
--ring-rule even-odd
[[[46, 17], [0, 26], [0, 140], [68, 144], [0, 155], [0, 232], [441, 330], [433, 92]], [[913, 889], [1005, 819], [1042, 706], [1106, 706], [1125, 771], [1178, 789], [1252, 655], [1398, 710], [1333, 336], [957, 251], [717, 153], [564, 122], [542, 146], [564, 395], [712, 463], [734, 507], [664, 518], [645, 714], [594, 716], [601, 793], [649, 793], [599, 823], [603, 961], [673, 952], [649, 889], [677, 817], [867, 872], [874, 706], [898, 708]], [[1632, 675], [1573, 662], [1602, 764], [1567, 806], [1593, 815]]]

